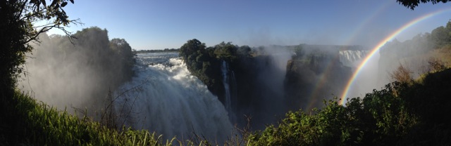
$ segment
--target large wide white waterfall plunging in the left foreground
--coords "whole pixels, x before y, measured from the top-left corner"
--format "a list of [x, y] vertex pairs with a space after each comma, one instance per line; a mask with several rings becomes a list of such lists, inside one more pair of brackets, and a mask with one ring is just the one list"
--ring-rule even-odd
[[230, 136], [233, 126], [226, 109], [177, 53], [138, 54], [137, 64], [136, 77], [121, 88], [139, 90], [116, 100], [118, 124], [156, 131], [165, 138], [187, 138], [193, 132], [218, 141]]

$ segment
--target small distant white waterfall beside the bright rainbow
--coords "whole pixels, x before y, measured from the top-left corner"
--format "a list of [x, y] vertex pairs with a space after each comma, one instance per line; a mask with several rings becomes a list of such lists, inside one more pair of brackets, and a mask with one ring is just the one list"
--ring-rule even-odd
[[347, 67], [355, 67], [366, 56], [366, 51], [359, 50], [345, 50], [339, 53], [340, 62]]

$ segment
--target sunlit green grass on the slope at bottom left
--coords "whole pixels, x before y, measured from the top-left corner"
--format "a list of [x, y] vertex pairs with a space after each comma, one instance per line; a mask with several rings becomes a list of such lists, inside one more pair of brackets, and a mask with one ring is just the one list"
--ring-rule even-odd
[[106, 128], [87, 117], [79, 119], [66, 111], [58, 112], [19, 91], [13, 99], [18, 102], [13, 108], [20, 124], [11, 134], [20, 134], [22, 145], [171, 145], [177, 142], [173, 138], [163, 143], [161, 135], [144, 130]]

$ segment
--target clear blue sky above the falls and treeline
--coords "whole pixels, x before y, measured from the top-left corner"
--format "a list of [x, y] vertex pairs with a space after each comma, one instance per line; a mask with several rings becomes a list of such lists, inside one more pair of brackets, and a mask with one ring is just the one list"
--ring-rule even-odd
[[[405, 23], [451, 4], [420, 4], [414, 11], [396, 0], [75, 0], [66, 7], [85, 27], [108, 29], [137, 50], [180, 48], [189, 39], [206, 46], [337, 44], [372, 47]], [[451, 11], [421, 21], [396, 39], [446, 25]], [[50, 34], [61, 34], [51, 30]]]

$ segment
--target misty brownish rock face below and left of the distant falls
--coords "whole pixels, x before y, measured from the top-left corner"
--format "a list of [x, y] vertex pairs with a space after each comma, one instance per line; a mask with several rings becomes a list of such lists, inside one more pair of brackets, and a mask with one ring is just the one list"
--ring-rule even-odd
[[321, 107], [323, 99], [341, 95], [351, 67], [342, 65], [336, 54], [309, 55], [289, 60], [285, 93], [291, 110]]

